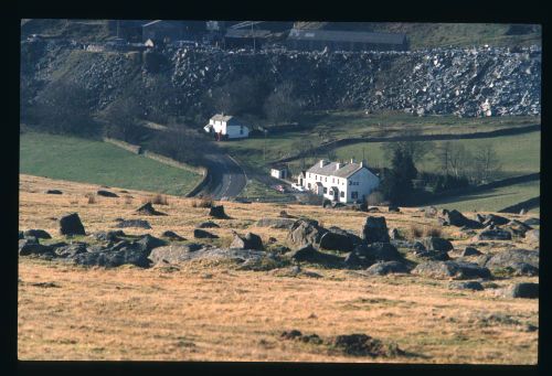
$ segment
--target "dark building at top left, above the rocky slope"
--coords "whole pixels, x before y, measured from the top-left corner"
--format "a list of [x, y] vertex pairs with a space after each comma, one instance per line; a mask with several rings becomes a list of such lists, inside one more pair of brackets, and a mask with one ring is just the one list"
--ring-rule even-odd
[[142, 42], [173, 43], [176, 41], [199, 41], [205, 33], [204, 21], [156, 20], [142, 25]]

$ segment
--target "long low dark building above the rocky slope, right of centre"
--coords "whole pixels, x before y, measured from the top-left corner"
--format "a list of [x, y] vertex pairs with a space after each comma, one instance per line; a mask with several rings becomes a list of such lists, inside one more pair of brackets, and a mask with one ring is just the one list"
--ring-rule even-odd
[[372, 33], [291, 29], [286, 44], [291, 50], [321, 51], [407, 51], [408, 41], [402, 33]]

